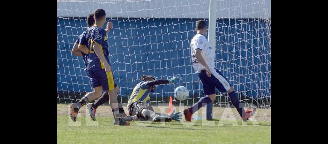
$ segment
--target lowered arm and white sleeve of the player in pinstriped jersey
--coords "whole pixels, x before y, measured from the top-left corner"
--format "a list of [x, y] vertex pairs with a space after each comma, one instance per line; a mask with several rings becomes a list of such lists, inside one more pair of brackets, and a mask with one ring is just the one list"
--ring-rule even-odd
[[195, 57], [197, 58], [198, 62], [202, 64], [206, 68], [206, 74], [208, 77], [211, 77], [211, 70], [210, 67], [205, 62], [201, 52], [203, 50], [203, 39], [198, 39], [196, 45], [194, 46]]

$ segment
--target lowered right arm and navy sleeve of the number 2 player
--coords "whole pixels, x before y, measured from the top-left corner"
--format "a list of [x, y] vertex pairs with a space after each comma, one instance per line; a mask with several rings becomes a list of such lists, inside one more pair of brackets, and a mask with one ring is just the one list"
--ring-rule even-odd
[[[103, 35], [106, 35], [106, 32], [102, 29], [102, 31], [100, 31], [99, 34], [101, 35], [100, 38], [93, 40], [93, 42], [94, 42], [93, 51], [96, 53], [98, 58], [104, 63], [105, 71], [110, 72], [112, 70], [112, 67], [108, 64], [108, 62], [105, 58], [105, 55], [100, 50], [100, 46], [99, 46], [100, 42], [104, 40]], [[96, 36], [96, 37], [98, 37], [98, 36]]]

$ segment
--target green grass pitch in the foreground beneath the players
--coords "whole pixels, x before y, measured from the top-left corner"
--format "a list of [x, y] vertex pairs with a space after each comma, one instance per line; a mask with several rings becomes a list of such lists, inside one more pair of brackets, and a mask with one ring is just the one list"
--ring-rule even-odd
[[[103, 112], [108, 114], [97, 115], [97, 121], [81, 111], [78, 122], [73, 123], [68, 107], [57, 105], [57, 143], [271, 143], [271, 121], [254, 124], [215, 119], [187, 123], [183, 119], [166, 123], [133, 121], [131, 126], [114, 126], [109, 110]], [[109, 107], [98, 109], [105, 111]]]

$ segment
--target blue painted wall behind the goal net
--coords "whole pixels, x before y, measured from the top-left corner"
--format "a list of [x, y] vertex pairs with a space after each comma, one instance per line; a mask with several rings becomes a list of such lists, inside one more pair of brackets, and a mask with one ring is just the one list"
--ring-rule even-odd
[[[208, 23], [208, 19], [205, 20]], [[196, 21], [191, 18], [113, 19], [114, 29], [108, 34], [109, 53], [121, 95], [130, 95], [141, 75], [163, 79], [183, 77], [180, 84], [158, 86], [155, 94], [158, 97], [173, 95], [174, 87], [179, 85], [186, 86], [190, 94], [202, 95], [189, 49]], [[268, 43], [271, 23], [267, 25], [263, 20], [254, 19], [217, 20], [216, 67], [237, 91], [249, 96], [271, 96]], [[70, 53], [86, 27], [85, 19], [57, 18], [57, 91], [92, 91], [82, 57]]]

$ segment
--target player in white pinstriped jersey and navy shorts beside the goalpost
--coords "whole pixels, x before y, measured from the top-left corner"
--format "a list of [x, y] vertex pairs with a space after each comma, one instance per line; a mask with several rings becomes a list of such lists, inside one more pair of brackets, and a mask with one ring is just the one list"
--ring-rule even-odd
[[207, 26], [204, 20], [196, 22], [197, 34], [191, 40], [190, 48], [192, 54], [192, 62], [195, 72], [203, 83], [205, 97], [199, 99], [192, 107], [185, 109], [183, 114], [186, 121], [191, 121], [191, 116], [203, 105], [215, 101], [216, 94], [215, 88], [221, 93], [227, 92], [232, 104], [236, 107], [243, 121], [247, 121], [250, 116], [256, 111], [246, 111], [238, 100], [234, 88], [229, 84], [227, 79], [223, 76], [218, 69], [215, 68], [215, 47], [212, 47], [210, 42], [206, 39]]

